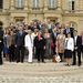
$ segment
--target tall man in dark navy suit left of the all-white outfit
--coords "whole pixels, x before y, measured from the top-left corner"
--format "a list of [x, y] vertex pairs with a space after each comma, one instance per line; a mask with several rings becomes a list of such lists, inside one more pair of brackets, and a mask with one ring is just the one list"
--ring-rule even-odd
[[23, 27], [19, 27], [19, 31], [15, 35], [15, 46], [17, 46], [17, 62], [23, 63], [24, 60], [24, 37], [25, 32], [23, 31]]

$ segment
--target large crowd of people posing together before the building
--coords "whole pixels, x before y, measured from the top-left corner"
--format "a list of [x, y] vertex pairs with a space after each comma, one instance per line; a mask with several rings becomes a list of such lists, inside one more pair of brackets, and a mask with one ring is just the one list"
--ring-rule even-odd
[[25, 55], [29, 63], [32, 63], [33, 59], [38, 59], [39, 63], [45, 63], [44, 59], [52, 59], [59, 54], [61, 62], [75, 65], [77, 55], [80, 66], [83, 55], [83, 31], [77, 35], [77, 31], [70, 28], [69, 23], [61, 25], [51, 21], [11, 23], [4, 30], [0, 28], [0, 64], [3, 63], [2, 51], [7, 61], [17, 63], [23, 63]]

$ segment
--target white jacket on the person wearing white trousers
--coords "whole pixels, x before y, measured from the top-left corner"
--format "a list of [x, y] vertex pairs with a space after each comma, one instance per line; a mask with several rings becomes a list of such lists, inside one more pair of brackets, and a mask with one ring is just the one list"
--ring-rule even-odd
[[28, 48], [33, 48], [33, 35], [30, 35], [27, 34], [25, 38], [24, 38], [24, 46], [28, 46]]

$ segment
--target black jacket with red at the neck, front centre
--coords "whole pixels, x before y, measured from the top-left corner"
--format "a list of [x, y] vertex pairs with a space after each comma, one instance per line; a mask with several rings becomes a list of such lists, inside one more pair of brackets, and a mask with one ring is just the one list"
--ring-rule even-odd
[[41, 40], [39, 40], [38, 37], [34, 38], [34, 46], [37, 49], [43, 50], [44, 49], [44, 45], [45, 45], [45, 39], [43, 37], [41, 37]]

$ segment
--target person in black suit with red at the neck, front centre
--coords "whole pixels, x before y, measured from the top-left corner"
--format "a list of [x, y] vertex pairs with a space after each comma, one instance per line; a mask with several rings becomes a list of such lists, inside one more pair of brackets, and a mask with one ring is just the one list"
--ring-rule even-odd
[[40, 31], [38, 37], [34, 38], [34, 48], [37, 50], [38, 62], [40, 62], [40, 59], [44, 62], [45, 39]]

